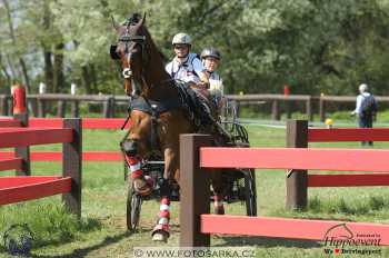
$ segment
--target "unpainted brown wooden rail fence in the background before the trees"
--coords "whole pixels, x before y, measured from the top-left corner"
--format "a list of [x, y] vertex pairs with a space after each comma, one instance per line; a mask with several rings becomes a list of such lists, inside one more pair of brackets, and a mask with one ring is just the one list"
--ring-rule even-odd
[[[308, 95], [227, 95], [229, 101], [231, 101], [237, 110], [239, 117], [239, 110], [242, 106], [247, 105], [263, 105], [271, 103], [271, 119], [280, 120], [282, 111], [287, 118], [291, 118], [291, 113], [296, 110], [297, 103], [305, 105], [305, 113], [308, 120], [313, 120], [313, 107], [318, 107], [318, 113], [320, 121], [326, 120], [327, 106], [329, 103], [352, 103], [356, 101], [355, 96], [308, 96]], [[389, 97], [376, 96], [377, 101], [388, 102]], [[0, 95], [0, 115], [11, 115], [11, 96]], [[34, 117], [46, 117], [48, 107], [52, 102], [57, 102], [57, 117], [64, 117], [67, 106], [71, 106], [71, 117], [79, 117], [80, 103], [98, 103], [102, 106], [102, 117], [112, 118], [116, 117], [119, 106], [128, 106], [129, 98], [127, 96], [108, 96], [108, 95], [29, 95], [29, 107]], [[285, 106], [285, 110], [281, 110], [281, 103]]]

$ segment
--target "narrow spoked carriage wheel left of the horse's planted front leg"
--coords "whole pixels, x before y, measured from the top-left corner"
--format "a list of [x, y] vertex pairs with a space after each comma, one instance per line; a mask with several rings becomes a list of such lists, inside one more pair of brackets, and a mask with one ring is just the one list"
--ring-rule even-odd
[[127, 229], [136, 230], [139, 226], [140, 209], [142, 207], [142, 197], [134, 192], [132, 181], [128, 187], [127, 195]]

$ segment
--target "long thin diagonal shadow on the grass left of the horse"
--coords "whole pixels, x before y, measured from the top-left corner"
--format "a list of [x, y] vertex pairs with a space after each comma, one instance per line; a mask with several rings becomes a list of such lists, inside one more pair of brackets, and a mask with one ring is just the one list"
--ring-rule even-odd
[[79, 257], [86, 257], [89, 252], [98, 250], [98, 249], [103, 248], [103, 247], [107, 247], [109, 245], [116, 244], [116, 242], [120, 241], [121, 239], [131, 236], [131, 234], [132, 232], [130, 232], [130, 231], [126, 231], [126, 232], [116, 235], [113, 237], [106, 237], [104, 240], [102, 240], [101, 242], [99, 242], [97, 245], [81, 248], [81, 249], [74, 249], [71, 254], [68, 254], [68, 255], [62, 255], [62, 256], [31, 255], [30, 257], [33, 257], [33, 258], [79, 258]]

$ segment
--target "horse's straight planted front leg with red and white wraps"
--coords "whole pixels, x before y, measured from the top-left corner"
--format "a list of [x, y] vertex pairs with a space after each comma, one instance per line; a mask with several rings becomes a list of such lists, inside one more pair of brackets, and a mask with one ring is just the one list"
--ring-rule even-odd
[[169, 221], [170, 221], [170, 199], [172, 192], [172, 182], [174, 181], [174, 172], [178, 169], [178, 158], [177, 151], [171, 148], [164, 149], [164, 171], [163, 178], [160, 182], [160, 208], [159, 218], [157, 225], [152, 230], [152, 240], [154, 241], [167, 241], [169, 232]]

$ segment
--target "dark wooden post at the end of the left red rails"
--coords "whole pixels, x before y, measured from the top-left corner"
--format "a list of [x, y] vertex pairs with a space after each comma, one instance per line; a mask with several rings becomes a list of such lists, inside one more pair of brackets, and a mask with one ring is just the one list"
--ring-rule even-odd
[[73, 129], [73, 141], [62, 147], [62, 176], [71, 177], [71, 192], [63, 194], [62, 199], [68, 211], [81, 218], [82, 188], [82, 126], [80, 118], [63, 119], [63, 128]]

